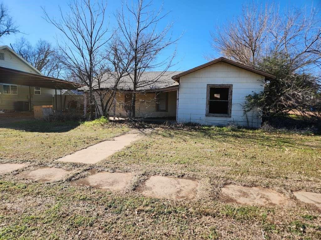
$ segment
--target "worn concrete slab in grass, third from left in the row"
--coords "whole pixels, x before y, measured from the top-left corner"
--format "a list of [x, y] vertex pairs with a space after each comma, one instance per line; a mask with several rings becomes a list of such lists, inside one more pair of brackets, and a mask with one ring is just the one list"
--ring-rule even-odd
[[134, 174], [130, 172], [98, 172], [91, 170], [90, 176], [77, 180], [76, 185], [87, 185], [110, 191], [120, 191], [126, 188]]

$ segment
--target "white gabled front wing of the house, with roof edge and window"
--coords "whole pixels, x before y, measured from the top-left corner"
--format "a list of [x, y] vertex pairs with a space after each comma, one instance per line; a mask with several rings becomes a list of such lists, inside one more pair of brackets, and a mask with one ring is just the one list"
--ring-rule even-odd
[[245, 97], [264, 89], [273, 75], [219, 58], [172, 79], [179, 83], [177, 122], [259, 127], [257, 110], [244, 113]]

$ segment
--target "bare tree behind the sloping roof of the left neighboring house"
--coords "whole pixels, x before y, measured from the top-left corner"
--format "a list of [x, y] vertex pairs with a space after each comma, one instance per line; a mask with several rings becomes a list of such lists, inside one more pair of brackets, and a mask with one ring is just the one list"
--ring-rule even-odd
[[32, 46], [22, 37], [10, 46], [44, 75], [59, 77], [63, 66], [58, 60], [59, 53], [49, 42], [40, 39], [35, 46]]

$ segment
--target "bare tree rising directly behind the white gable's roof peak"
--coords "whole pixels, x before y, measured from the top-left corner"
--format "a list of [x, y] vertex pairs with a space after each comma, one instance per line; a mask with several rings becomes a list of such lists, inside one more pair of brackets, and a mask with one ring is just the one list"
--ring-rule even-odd
[[227, 58], [254, 67], [264, 54], [271, 15], [272, 7], [268, 5], [243, 7], [241, 16], [211, 33], [213, 49]]

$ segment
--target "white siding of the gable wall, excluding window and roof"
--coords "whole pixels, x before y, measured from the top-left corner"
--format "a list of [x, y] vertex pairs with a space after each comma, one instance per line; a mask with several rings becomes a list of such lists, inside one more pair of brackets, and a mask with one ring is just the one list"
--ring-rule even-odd
[[[249, 112], [246, 117], [242, 106], [247, 95], [263, 91], [263, 81], [264, 76], [222, 62], [183, 76], [179, 85], [177, 121], [259, 127], [258, 112]], [[233, 84], [231, 117], [205, 116], [207, 84]]]

